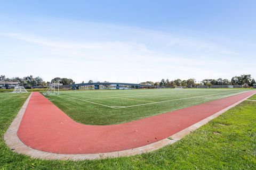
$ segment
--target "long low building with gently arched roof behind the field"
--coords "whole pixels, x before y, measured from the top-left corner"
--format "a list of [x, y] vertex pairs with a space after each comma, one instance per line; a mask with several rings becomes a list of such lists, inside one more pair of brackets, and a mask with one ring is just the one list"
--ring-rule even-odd
[[80, 87], [83, 87], [83, 86], [94, 86], [94, 89], [100, 89], [100, 86], [111, 86], [111, 85], [114, 85], [116, 89], [120, 89], [121, 85], [135, 87], [135, 88], [152, 87], [151, 85], [145, 85], [145, 84], [113, 83], [113, 82], [78, 83], [78, 84], [68, 84], [62, 87], [71, 87], [72, 89], [79, 89]]

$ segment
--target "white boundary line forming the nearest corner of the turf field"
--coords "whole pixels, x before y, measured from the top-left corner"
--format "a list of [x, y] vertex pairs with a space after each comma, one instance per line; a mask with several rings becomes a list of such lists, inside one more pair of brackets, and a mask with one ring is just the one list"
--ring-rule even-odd
[[[246, 90], [246, 91], [249, 91], [249, 90]], [[246, 91], [243, 90], [242, 92], [239, 92], [239, 93], [237, 93], [237, 94], [241, 94], [241, 93], [246, 92]], [[88, 103], [92, 103], [92, 104], [96, 104], [96, 105], [101, 105], [101, 106], [105, 106], [105, 107], [110, 107], [110, 108], [114, 108], [114, 109], [119, 109], [119, 108], [127, 108], [127, 107], [135, 107], [135, 106], [144, 106], [144, 105], [151, 105], [151, 104], [157, 104], [157, 103], [164, 103], [164, 102], [167, 102], [167, 101], [175, 101], [175, 100], [183, 100], [183, 99], [190, 99], [190, 98], [198, 98], [198, 97], [204, 97], [204, 96], [214, 96], [214, 95], [220, 95], [220, 94], [227, 94], [227, 93], [230, 93], [230, 92], [235, 92], [235, 91], [221, 92], [221, 93], [218, 93], [218, 94], [194, 96], [194, 97], [187, 97], [187, 98], [180, 98], [180, 99], [171, 99], [171, 100], [164, 100], [164, 101], [156, 101], [156, 102], [153, 102], [153, 103], [146, 103], [146, 104], [139, 104], [139, 105], [120, 106], [120, 107], [103, 105], [103, 104], [95, 103], [95, 102], [92, 102], [92, 101], [83, 100], [83, 99], [78, 99], [78, 98], [70, 97], [70, 96], [66, 96], [66, 95], [62, 95], [62, 96], [66, 96], [66, 97], [73, 98], [73, 99], [77, 99], [77, 100], [81, 100], [81, 101], [86, 101], [86, 102], [88, 102]], [[237, 95], [237, 94], [232, 94], [232, 95], [228, 95], [228, 96], [233, 96], [233, 95]]]

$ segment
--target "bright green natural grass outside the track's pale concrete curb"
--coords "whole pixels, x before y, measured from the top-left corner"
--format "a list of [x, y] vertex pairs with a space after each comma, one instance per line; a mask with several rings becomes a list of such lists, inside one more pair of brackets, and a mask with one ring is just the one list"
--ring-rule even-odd
[[[29, 94], [0, 94], [0, 169], [256, 169], [256, 102], [243, 103], [173, 145], [142, 155], [79, 162], [9, 149], [3, 135]], [[256, 95], [253, 97], [255, 98]]]

